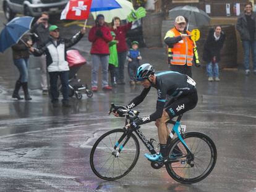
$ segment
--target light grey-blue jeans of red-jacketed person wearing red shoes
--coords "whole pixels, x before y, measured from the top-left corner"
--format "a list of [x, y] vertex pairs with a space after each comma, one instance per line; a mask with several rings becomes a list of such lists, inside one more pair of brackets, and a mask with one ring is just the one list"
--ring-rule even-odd
[[101, 64], [102, 87], [108, 86], [108, 59], [109, 56], [92, 54], [92, 86], [98, 87], [98, 71]]

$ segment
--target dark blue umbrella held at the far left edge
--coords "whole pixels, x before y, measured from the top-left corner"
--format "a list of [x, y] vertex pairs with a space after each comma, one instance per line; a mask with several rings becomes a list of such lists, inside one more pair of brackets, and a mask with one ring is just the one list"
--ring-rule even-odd
[[15, 17], [7, 23], [0, 34], [0, 52], [4, 52], [13, 44], [18, 43], [20, 38], [30, 30], [34, 17]]

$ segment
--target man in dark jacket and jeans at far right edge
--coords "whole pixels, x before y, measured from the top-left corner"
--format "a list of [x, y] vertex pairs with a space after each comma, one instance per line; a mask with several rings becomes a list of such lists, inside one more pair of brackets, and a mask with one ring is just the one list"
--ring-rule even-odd
[[248, 1], [245, 4], [244, 13], [238, 17], [236, 28], [240, 33], [244, 48], [245, 75], [250, 74], [250, 51], [252, 51], [252, 62], [256, 75], [256, 14], [252, 11], [252, 2]]

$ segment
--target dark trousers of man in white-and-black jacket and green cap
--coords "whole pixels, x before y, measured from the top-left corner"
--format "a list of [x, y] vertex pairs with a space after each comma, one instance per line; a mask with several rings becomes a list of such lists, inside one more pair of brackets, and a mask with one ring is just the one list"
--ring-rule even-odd
[[58, 102], [58, 77], [61, 79], [62, 87], [62, 102], [69, 101], [69, 71], [64, 72], [49, 72], [51, 102]]

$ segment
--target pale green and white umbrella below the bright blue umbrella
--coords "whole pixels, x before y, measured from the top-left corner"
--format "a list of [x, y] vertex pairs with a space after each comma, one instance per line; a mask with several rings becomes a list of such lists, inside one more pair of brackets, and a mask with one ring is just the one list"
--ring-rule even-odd
[[92, 12], [93, 18], [96, 19], [96, 14], [103, 14], [105, 22], [110, 23], [114, 17], [119, 17], [121, 20], [126, 19], [127, 15], [134, 10], [132, 3], [127, 0], [116, 0], [116, 2], [121, 8]]

